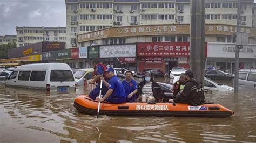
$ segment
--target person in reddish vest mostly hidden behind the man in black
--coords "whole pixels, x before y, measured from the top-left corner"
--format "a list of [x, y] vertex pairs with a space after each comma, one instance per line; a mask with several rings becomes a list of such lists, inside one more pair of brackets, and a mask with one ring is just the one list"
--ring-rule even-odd
[[173, 96], [176, 97], [178, 92], [183, 91], [184, 87], [185, 87], [185, 77], [184, 77], [185, 73], [181, 73], [179, 76], [179, 80], [176, 81], [173, 84], [173, 87], [171, 88], [171, 91], [173, 92]]

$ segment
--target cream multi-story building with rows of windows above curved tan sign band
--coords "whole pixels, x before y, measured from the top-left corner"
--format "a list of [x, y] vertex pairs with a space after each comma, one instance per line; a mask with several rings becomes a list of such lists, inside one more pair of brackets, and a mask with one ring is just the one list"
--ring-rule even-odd
[[[77, 34], [107, 27], [189, 24], [190, 0], [66, 0], [67, 48], [77, 47]], [[253, 0], [242, 0], [241, 25], [255, 25]], [[237, 23], [237, 0], [206, 0], [206, 24]]]

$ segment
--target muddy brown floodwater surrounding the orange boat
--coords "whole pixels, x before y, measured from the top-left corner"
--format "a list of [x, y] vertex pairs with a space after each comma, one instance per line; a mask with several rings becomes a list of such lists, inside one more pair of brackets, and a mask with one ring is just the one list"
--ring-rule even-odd
[[86, 91], [46, 95], [44, 91], [0, 87], [0, 142], [256, 142], [256, 91], [206, 94], [231, 109], [228, 118], [112, 117], [84, 115], [73, 107]]

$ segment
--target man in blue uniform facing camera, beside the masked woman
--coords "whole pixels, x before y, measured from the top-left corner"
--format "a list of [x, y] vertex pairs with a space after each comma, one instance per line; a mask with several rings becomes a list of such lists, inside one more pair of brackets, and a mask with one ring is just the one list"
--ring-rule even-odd
[[132, 79], [132, 72], [131, 71], [126, 71], [125, 72], [125, 80], [122, 81], [124, 90], [125, 90], [125, 95], [126, 95], [126, 101], [127, 102], [133, 102], [135, 101], [138, 96], [138, 86], [137, 82]]

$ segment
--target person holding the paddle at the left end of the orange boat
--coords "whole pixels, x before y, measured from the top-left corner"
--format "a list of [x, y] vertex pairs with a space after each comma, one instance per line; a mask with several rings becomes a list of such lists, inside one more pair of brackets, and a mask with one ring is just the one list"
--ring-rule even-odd
[[[94, 67], [93, 80], [89, 82], [89, 84], [94, 84], [96, 82], [96, 87], [90, 92], [89, 97], [93, 100], [96, 99], [97, 96], [99, 96], [99, 90], [100, 90], [100, 77], [104, 77], [105, 80], [108, 80], [107, 78], [107, 67], [103, 63], [99, 62], [99, 59], [93, 59], [92, 60]], [[102, 94], [106, 94], [107, 87], [103, 84], [102, 85]]]

